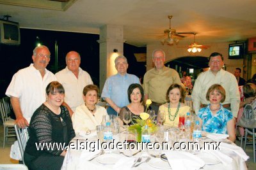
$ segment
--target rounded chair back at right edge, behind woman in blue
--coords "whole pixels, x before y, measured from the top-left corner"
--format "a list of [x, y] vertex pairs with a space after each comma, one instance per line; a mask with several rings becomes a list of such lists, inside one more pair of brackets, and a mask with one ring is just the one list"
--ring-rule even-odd
[[252, 104], [244, 106], [243, 115], [237, 125], [249, 129], [256, 128], [256, 114], [253, 111]]

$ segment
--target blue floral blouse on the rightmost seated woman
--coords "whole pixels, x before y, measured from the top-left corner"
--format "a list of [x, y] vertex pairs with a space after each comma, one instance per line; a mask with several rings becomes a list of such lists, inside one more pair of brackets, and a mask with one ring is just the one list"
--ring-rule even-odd
[[233, 115], [222, 105], [216, 115], [212, 115], [210, 105], [208, 105], [198, 111], [198, 117], [202, 119], [202, 131], [227, 134], [227, 122], [233, 118]]

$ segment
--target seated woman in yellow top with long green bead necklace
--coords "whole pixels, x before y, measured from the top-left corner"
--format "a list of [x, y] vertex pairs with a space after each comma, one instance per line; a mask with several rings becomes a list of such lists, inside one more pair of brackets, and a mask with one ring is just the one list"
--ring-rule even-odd
[[179, 117], [185, 116], [190, 111], [190, 107], [184, 104], [186, 92], [182, 85], [177, 83], [170, 85], [166, 92], [168, 103], [159, 107], [159, 111], [164, 111], [164, 125], [179, 127]]

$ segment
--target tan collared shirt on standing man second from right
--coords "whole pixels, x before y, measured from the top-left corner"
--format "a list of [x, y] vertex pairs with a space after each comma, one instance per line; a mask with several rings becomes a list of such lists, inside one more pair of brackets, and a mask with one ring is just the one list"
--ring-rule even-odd
[[160, 70], [152, 68], [147, 71], [143, 81], [145, 94], [148, 94], [148, 99], [156, 103], [166, 103], [166, 92], [170, 85], [182, 84], [177, 71], [165, 66]]

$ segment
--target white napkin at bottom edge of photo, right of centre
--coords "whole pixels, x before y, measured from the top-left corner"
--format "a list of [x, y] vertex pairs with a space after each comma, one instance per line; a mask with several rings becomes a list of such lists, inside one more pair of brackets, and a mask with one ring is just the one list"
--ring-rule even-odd
[[204, 161], [188, 152], [171, 151], [164, 152], [173, 170], [200, 169]]

